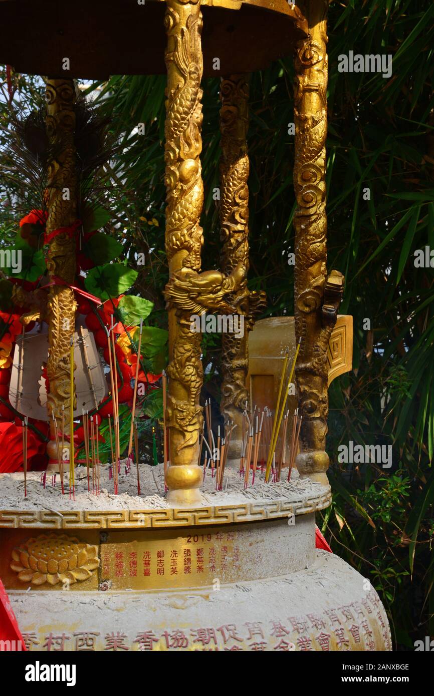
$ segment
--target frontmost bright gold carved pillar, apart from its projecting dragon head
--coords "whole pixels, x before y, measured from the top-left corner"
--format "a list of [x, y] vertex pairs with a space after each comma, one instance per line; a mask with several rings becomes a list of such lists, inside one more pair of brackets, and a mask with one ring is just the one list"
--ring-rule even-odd
[[[175, 274], [201, 270], [203, 206], [201, 177], [202, 13], [200, 1], [166, 0], [166, 254], [169, 284]], [[197, 461], [203, 416], [201, 333], [190, 330], [191, 309], [168, 301], [169, 377], [166, 422], [170, 466], [168, 499], [199, 502], [202, 473]]]

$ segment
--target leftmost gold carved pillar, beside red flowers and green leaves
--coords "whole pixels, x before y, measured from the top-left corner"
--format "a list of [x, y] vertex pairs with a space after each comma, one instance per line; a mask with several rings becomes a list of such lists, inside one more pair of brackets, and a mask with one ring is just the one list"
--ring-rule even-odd
[[[47, 235], [59, 228], [69, 227], [77, 220], [77, 171], [75, 164], [75, 86], [70, 79], [47, 79], [47, 133], [55, 148], [49, 164], [47, 182]], [[56, 235], [49, 244], [47, 268], [50, 278], [61, 278], [73, 284], [75, 278], [75, 235]], [[49, 394], [47, 408], [51, 418], [56, 416], [59, 427], [62, 406], [65, 408], [65, 433], [69, 434], [70, 413], [70, 339], [74, 335], [77, 303], [69, 287], [54, 285], [49, 290], [47, 376]], [[52, 424], [50, 423], [50, 427]], [[52, 438], [54, 430], [52, 427]], [[47, 447], [57, 459], [52, 439]]]

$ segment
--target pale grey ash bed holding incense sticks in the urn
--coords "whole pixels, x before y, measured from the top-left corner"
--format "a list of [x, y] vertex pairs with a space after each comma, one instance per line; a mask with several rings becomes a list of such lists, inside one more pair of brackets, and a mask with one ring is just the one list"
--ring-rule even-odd
[[[75, 469], [75, 495], [70, 496], [69, 475], [64, 475], [64, 490], [61, 491], [59, 473], [47, 473], [45, 487], [43, 474], [29, 472], [27, 474], [27, 496], [24, 497], [24, 473], [0, 474], [0, 509], [3, 510], [120, 510], [120, 509], [157, 509], [176, 507], [166, 500], [164, 491], [164, 468], [139, 464], [141, 494], [137, 495], [137, 467], [130, 466], [128, 473], [127, 460], [121, 463], [118, 477], [118, 495], [114, 494], [114, 482], [109, 475], [109, 466], [100, 466], [100, 493], [92, 493], [92, 471], [90, 478], [91, 491], [88, 491], [86, 467]], [[286, 471], [286, 473], [285, 473]], [[287, 476], [287, 470], [282, 471], [282, 478]], [[288, 503], [307, 500], [320, 496], [327, 488], [309, 479], [300, 479], [297, 471], [293, 470], [290, 481], [265, 483], [264, 475], [259, 471], [254, 485], [244, 487], [244, 476], [238, 470], [226, 468], [222, 491], [216, 491], [215, 477], [207, 470], [201, 492], [203, 505], [233, 505], [283, 499]]]

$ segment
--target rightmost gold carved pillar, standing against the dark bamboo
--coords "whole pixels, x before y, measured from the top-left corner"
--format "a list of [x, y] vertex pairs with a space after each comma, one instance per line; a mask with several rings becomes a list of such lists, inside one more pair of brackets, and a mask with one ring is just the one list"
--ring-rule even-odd
[[295, 335], [302, 339], [295, 378], [302, 415], [302, 477], [327, 484], [327, 345], [343, 290], [343, 276], [327, 276], [325, 140], [327, 136], [327, 0], [300, 10], [309, 37], [295, 51]]

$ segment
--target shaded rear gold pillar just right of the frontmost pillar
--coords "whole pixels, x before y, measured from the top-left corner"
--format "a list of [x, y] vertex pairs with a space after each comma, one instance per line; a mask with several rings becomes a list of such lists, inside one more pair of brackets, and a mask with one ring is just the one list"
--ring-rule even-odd
[[[222, 253], [220, 267], [230, 274], [238, 264], [249, 269], [249, 156], [247, 129], [249, 126], [249, 79], [245, 74], [229, 75], [220, 86], [220, 240]], [[247, 280], [228, 301], [242, 321], [242, 335], [222, 335], [222, 400], [220, 410], [225, 425], [237, 424], [229, 459], [241, 457], [242, 411], [247, 407], [249, 394], [245, 387], [249, 364], [249, 331], [254, 316], [265, 306], [265, 294], [249, 292]]]

